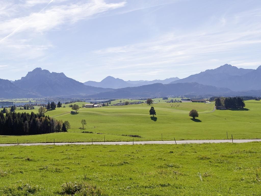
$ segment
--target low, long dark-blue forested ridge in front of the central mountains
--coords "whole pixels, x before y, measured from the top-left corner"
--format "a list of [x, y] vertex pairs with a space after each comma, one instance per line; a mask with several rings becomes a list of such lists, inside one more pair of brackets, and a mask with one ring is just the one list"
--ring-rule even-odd
[[115, 89], [108, 92], [98, 93], [90, 97], [99, 98], [130, 98], [130, 97], [162, 97], [180, 96], [186, 94], [193, 95], [216, 95], [217, 93], [230, 92], [228, 88], [217, 88], [210, 85], [198, 83], [177, 83], [177, 84], [149, 84], [139, 87], [127, 87]]

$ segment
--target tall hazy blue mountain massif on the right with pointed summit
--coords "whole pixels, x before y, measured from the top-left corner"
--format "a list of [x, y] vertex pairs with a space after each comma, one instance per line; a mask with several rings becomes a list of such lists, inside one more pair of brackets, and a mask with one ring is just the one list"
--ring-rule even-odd
[[261, 74], [258, 70], [237, 68], [225, 64], [171, 83], [197, 82], [216, 87], [227, 87], [234, 91], [259, 90], [261, 87], [253, 84], [260, 82], [260, 77]]

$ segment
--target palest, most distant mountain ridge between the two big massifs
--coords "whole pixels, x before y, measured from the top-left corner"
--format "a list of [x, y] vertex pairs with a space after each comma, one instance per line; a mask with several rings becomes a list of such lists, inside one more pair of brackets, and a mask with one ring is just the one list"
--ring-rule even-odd
[[143, 85], [148, 85], [148, 84], [155, 84], [155, 83], [162, 83], [162, 84], [168, 84], [170, 82], [173, 82], [175, 80], [178, 80], [178, 77], [175, 78], [167, 78], [165, 80], [138, 80], [138, 81], [124, 81], [123, 79], [120, 78], [114, 78], [112, 76], [108, 76], [104, 78], [100, 82], [95, 82], [95, 81], [87, 81], [84, 84], [93, 86], [93, 87], [101, 87], [101, 88], [113, 88], [113, 89], [119, 89], [119, 88], [125, 88], [125, 87], [138, 87], [138, 86], [143, 86]]

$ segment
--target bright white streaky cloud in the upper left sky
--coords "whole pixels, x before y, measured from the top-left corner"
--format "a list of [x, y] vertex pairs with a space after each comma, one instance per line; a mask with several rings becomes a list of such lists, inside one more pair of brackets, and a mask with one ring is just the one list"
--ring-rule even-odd
[[[13, 56], [16, 59], [35, 59], [44, 56], [45, 52], [53, 47], [44, 36], [46, 32], [70, 26], [79, 20], [89, 19], [126, 4], [126, 2], [106, 3], [102, 0], [73, 2], [27, 0], [15, 4], [13, 1], [6, 3], [0, 0], [0, 3], [3, 3], [0, 18], [4, 18], [0, 20], [0, 53], [7, 59], [12, 59]], [[37, 8], [32, 8], [33, 6]], [[36, 9], [38, 11], [35, 11]], [[27, 14], [24, 10], [30, 12]]]

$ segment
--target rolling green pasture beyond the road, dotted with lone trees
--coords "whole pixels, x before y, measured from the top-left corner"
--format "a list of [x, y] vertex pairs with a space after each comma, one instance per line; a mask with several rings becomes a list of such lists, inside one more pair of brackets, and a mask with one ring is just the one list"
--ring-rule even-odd
[[[83, 102], [79, 102], [79, 106]], [[261, 101], [245, 101], [242, 110], [216, 110], [214, 103], [166, 103], [152, 105], [137, 104], [127, 106], [109, 106], [100, 108], [80, 108], [77, 114], [70, 114], [71, 108], [56, 108], [46, 115], [57, 120], [68, 120], [71, 129], [68, 133], [54, 133], [31, 136], [2, 136], [0, 143], [19, 142], [90, 142], [93, 141], [132, 141], [124, 135], [139, 135], [134, 140], [187, 140], [187, 139], [234, 139], [261, 138], [260, 111]], [[152, 120], [149, 109], [153, 106], [157, 119]], [[191, 109], [199, 111], [199, 118], [193, 121], [188, 113]], [[17, 110], [19, 111], [19, 110]], [[35, 109], [37, 111], [37, 109]], [[31, 111], [29, 111], [31, 112]], [[81, 133], [81, 119], [87, 121], [85, 131]], [[155, 121], [156, 120], [156, 121]], [[97, 134], [102, 133], [102, 134]]]

